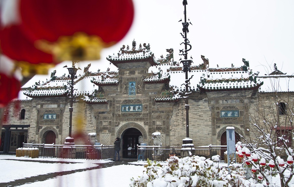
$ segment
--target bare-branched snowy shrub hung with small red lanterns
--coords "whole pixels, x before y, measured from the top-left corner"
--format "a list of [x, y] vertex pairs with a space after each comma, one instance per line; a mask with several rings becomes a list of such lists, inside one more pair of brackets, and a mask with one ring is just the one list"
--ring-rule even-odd
[[[291, 186], [290, 181], [294, 174], [293, 167], [293, 149], [290, 147], [280, 148], [277, 145], [277, 140], [271, 138], [265, 132], [259, 137], [263, 143], [251, 144], [238, 142], [236, 144], [236, 154], [243, 158], [245, 167], [249, 168], [252, 173], [254, 183], [262, 183], [264, 186], [275, 186], [272, 183], [272, 177], [280, 176], [280, 186]], [[240, 149], [242, 144], [242, 149]], [[263, 146], [263, 147], [261, 147]], [[284, 161], [276, 154], [277, 150], [284, 150], [288, 156], [287, 161]]]

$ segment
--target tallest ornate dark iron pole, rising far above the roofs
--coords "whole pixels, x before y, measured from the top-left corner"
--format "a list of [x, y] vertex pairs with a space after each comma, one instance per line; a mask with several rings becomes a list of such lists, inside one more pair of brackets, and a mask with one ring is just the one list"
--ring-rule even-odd
[[[185, 50], [180, 50], [180, 54], [179, 55], [183, 55], [185, 60], [182, 60], [182, 58], [180, 59], [180, 63], [183, 64], [183, 72], [185, 72], [185, 78], [186, 78], [186, 84], [185, 84], [185, 92], [183, 93], [183, 97], [185, 99], [185, 109], [186, 109], [186, 138], [183, 139], [183, 146], [193, 146], [193, 140], [189, 138], [189, 100], [188, 100], [188, 92], [190, 89], [190, 82], [188, 81], [188, 72], [191, 72], [190, 67], [191, 67], [191, 63], [193, 63], [192, 60], [188, 60], [188, 51], [191, 50], [192, 46], [190, 44], [189, 39], [187, 38], [187, 33], [189, 32], [188, 26], [189, 23], [187, 22], [187, 11], [186, 11], [186, 5], [188, 4], [187, 0], [183, 0], [183, 6], [184, 6], [184, 22], [182, 22], [183, 25], [183, 33], [181, 33], [181, 36], [184, 38], [184, 42], [182, 42], [180, 45], [184, 44], [185, 45]], [[182, 19], [180, 20], [182, 21]], [[188, 21], [190, 21], [188, 19]], [[191, 22], [190, 22], [191, 24]], [[192, 25], [192, 24], [191, 24]], [[189, 46], [189, 48], [188, 48]], [[191, 56], [192, 59], [192, 56]], [[190, 89], [191, 90], [191, 89]], [[186, 144], [186, 145], [185, 145]]]

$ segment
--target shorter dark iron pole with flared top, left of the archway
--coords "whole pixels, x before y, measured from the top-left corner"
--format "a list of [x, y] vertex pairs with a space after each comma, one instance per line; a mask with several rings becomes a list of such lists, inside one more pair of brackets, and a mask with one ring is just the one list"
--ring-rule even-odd
[[79, 61], [72, 61], [72, 65], [70, 68], [67, 68], [67, 65], [64, 66], [64, 68], [67, 68], [67, 70], [69, 70], [69, 76], [71, 78], [71, 83], [70, 83], [70, 87], [69, 87], [69, 137], [66, 138], [65, 140], [65, 144], [72, 144], [74, 145], [74, 138], [71, 137], [71, 127], [72, 127], [72, 114], [73, 114], [73, 104], [74, 104], [74, 78], [76, 76], [76, 72], [80, 69], [80, 68], [76, 68], [75, 64], [78, 63]]

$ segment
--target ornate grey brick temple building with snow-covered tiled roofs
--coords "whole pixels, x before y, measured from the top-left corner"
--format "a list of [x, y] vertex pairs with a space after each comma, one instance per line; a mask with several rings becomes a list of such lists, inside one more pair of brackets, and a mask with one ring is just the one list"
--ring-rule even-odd
[[[192, 64], [186, 79], [183, 67], [173, 60], [173, 49], [167, 53], [155, 58], [149, 44], [133, 41], [131, 47], [122, 46], [106, 58], [118, 71], [90, 71], [89, 64], [78, 72], [72, 134], [96, 132], [103, 145], [112, 145], [120, 137], [123, 156], [127, 156], [124, 150], [139, 143], [152, 145], [154, 132], [161, 133], [162, 146], [182, 146], [188, 96], [193, 144], [225, 145], [228, 126], [235, 127], [237, 138], [250, 135], [252, 116], [259, 115], [254, 108], [265, 105], [271, 93], [290, 93], [293, 100], [293, 72], [284, 74], [277, 66], [260, 76], [245, 59], [240, 67], [219, 68], [210, 67], [201, 55], [203, 63]], [[56, 76], [56, 71], [49, 80], [23, 87], [23, 96], [5, 108], [0, 151], [13, 152], [22, 142], [64, 144], [69, 136], [71, 79], [67, 74]], [[278, 90], [273, 82], [278, 82]], [[75, 144], [86, 143], [75, 138]]]

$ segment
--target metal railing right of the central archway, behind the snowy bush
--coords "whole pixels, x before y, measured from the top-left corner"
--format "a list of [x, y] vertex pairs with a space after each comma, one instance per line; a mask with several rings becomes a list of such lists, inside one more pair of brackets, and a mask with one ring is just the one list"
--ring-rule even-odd
[[178, 157], [186, 157], [192, 155], [203, 156], [212, 159], [214, 155], [220, 155], [220, 159], [224, 160], [224, 152], [227, 146], [198, 146], [198, 147], [162, 147], [162, 146], [138, 146], [138, 160], [156, 160], [165, 161], [171, 154]]

